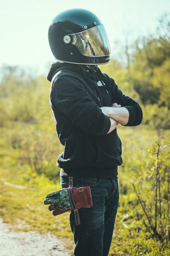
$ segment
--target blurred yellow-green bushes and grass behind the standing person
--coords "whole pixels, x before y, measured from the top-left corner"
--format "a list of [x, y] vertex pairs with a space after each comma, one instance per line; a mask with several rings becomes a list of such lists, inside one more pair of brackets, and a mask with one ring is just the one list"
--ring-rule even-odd
[[[169, 255], [170, 16], [159, 20], [155, 35], [127, 44], [120, 58], [100, 68], [143, 109], [142, 125], [118, 127], [124, 163], [110, 255]], [[43, 205], [46, 193], [59, 188], [56, 160], [63, 150], [49, 106], [50, 82], [18, 66], [2, 65], [0, 73], [0, 215], [11, 222], [24, 209], [20, 218], [36, 230], [70, 237], [68, 220], [61, 216], [50, 223]], [[26, 208], [21, 192], [7, 183], [28, 188]]]

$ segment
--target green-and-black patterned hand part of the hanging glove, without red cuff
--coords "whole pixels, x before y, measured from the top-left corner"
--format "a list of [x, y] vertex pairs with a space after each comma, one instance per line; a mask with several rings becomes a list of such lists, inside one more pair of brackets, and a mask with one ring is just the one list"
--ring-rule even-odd
[[[50, 204], [49, 210], [54, 210], [56, 212], [57, 209], [67, 210], [71, 208], [70, 200], [69, 200], [69, 192], [67, 189], [61, 189], [59, 191], [54, 191], [46, 196], [44, 204]], [[55, 214], [56, 215], [56, 214]]]

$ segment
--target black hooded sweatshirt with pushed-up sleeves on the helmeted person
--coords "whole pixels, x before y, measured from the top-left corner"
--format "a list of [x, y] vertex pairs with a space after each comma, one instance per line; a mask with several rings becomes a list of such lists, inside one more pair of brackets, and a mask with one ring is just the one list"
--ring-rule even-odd
[[114, 102], [129, 111], [126, 126], [139, 125], [142, 109], [125, 96], [114, 80], [99, 68], [83, 71], [76, 64], [54, 63], [48, 80], [50, 106], [59, 142], [65, 147], [57, 166], [74, 177], [110, 178], [122, 164], [121, 141], [117, 130], [107, 134], [111, 121], [101, 106]]

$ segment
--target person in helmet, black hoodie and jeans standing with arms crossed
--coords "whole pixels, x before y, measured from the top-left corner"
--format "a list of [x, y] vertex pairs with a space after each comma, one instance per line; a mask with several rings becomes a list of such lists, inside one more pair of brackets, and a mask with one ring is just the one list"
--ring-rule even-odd
[[48, 75], [52, 81], [50, 106], [59, 142], [61, 186], [90, 185], [94, 206], [79, 209], [75, 225], [75, 256], [106, 256], [111, 246], [118, 207], [117, 166], [122, 164], [117, 126], [136, 126], [142, 121], [138, 103], [125, 96], [114, 80], [98, 67], [110, 59], [103, 24], [91, 11], [71, 9], [53, 19], [49, 44], [58, 62]]

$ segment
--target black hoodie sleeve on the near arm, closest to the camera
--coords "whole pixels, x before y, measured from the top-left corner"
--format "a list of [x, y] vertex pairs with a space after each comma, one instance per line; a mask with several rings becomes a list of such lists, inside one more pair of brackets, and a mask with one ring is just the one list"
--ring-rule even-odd
[[92, 100], [83, 80], [72, 73], [57, 73], [50, 90], [50, 105], [54, 112], [58, 109], [87, 134], [105, 135], [111, 127], [109, 117]]

